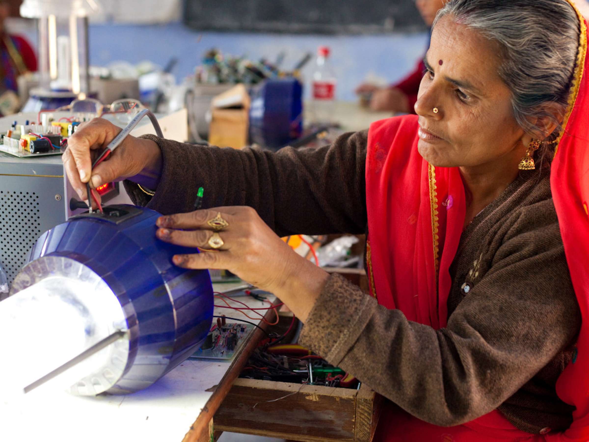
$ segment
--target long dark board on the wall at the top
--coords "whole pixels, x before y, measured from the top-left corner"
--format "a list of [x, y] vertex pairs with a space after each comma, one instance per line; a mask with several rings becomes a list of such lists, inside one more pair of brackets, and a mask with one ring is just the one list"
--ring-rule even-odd
[[383, 34], [425, 29], [414, 0], [184, 0], [198, 30]]

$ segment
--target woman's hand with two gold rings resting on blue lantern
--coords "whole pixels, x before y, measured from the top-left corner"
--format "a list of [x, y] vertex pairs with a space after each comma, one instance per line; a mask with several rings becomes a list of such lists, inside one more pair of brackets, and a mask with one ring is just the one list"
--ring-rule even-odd
[[219, 214], [227, 226], [217, 232], [223, 240], [218, 251], [176, 255], [174, 264], [187, 269], [227, 269], [243, 281], [274, 293], [305, 321], [328, 275], [297, 255], [251, 207], [217, 207], [162, 216], [157, 220], [157, 237], [210, 250], [209, 240], [215, 232], [209, 221]]

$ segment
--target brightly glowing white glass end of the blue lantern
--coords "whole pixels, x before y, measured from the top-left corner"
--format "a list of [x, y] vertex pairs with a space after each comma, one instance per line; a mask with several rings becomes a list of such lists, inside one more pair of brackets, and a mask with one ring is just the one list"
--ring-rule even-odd
[[[98, 275], [77, 262], [66, 263], [66, 270], [67, 258], [49, 259], [51, 271], [39, 266], [40, 280], [0, 302], [0, 397], [22, 394], [27, 385], [125, 326], [120, 303]], [[127, 356], [128, 338], [120, 339], [29, 394], [70, 390], [84, 379], [72, 392], [105, 391], [112, 382], [103, 373], [108, 369], [118, 380]], [[120, 360], [116, 366], [114, 359]]]

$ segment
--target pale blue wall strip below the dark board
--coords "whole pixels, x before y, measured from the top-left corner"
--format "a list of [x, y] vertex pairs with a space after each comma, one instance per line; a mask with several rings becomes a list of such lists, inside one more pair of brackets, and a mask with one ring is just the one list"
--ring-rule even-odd
[[[200, 41], [199, 41], [200, 38]], [[150, 60], [165, 65], [172, 57], [180, 58], [174, 70], [178, 81], [194, 72], [203, 53], [218, 48], [224, 54], [246, 55], [252, 60], [262, 57], [275, 60], [280, 51], [287, 56], [283, 67], [292, 67], [305, 52], [315, 54], [319, 45], [332, 49], [339, 100], [355, 100], [354, 88], [372, 72], [393, 82], [402, 78], [423, 57], [428, 34], [392, 35], [283, 35], [197, 32], [181, 23], [167, 25], [91, 25], [90, 63], [107, 65], [125, 60], [137, 63]], [[313, 72], [309, 62], [303, 77]], [[308, 89], [308, 88], [307, 88]]]

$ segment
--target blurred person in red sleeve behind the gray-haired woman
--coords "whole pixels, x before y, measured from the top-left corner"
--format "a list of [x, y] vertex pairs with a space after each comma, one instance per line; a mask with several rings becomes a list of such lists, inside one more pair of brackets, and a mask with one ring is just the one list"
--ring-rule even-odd
[[[415, 0], [415, 6], [428, 27], [432, 26], [436, 14], [448, 0]], [[584, 0], [581, 0], [584, 1]], [[417, 101], [419, 83], [425, 72], [423, 60], [419, 60], [415, 69], [399, 81], [388, 87], [378, 87], [365, 83], [356, 88], [356, 94], [370, 96], [369, 105], [373, 111], [391, 111], [393, 113], [415, 113], [413, 105]]]

